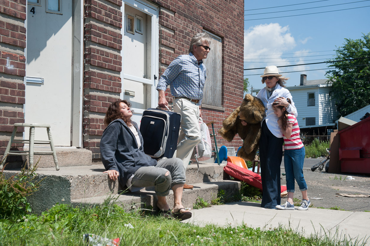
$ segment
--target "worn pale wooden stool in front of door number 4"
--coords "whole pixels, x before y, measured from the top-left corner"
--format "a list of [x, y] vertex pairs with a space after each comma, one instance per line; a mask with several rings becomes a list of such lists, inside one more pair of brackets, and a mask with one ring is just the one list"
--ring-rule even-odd
[[[16, 136], [17, 128], [18, 127], [30, 127], [30, 139], [29, 140], [23, 140], [23, 139], [14, 139]], [[35, 140], [35, 127], [44, 127], [46, 128], [47, 135], [49, 137], [48, 141], [41, 141], [41, 140]], [[10, 150], [11, 144], [13, 143], [28, 143], [30, 145], [30, 148], [28, 150]], [[51, 151], [33, 151], [34, 144], [49, 144]], [[54, 148], [54, 142], [53, 138], [51, 137], [50, 132], [50, 125], [47, 124], [27, 124], [27, 123], [15, 123], [13, 133], [11, 133], [11, 138], [8, 143], [8, 146], [6, 147], [3, 160], [1, 161], [0, 170], [3, 169], [3, 165], [6, 161], [6, 157], [8, 155], [15, 155], [15, 156], [26, 156], [28, 155], [28, 160], [30, 162], [30, 168], [33, 168], [33, 156], [34, 154], [37, 155], [52, 155], [54, 158], [54, 164], [55, 169], [58, 171], [58, 158], [57, 153], [55, 152]]]

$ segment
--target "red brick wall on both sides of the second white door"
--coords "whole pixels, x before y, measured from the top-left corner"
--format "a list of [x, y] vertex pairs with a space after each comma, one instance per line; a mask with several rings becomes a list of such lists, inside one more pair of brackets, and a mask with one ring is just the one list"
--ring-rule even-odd
[[[244, 1], [152, 0], [159, 6], [159, 75], [178, 55], [187, 54], [191, 38], [203, 29], [222, 37], [221, 110], [202, 109], [206, 122], [222, 126], [243, 96]], [[99, 143], [107, 107], [121, 93], [122, 13], [120, 0], [85, 1], [84, 30], [84, 147], [100, 158]], [[172, 99], [167, 93], [168, 101]], [[242, 144], [239, 137], [231, 144], [220, 136], [217, 144]], [[213, 141], [213, 140], [212, 140]]]

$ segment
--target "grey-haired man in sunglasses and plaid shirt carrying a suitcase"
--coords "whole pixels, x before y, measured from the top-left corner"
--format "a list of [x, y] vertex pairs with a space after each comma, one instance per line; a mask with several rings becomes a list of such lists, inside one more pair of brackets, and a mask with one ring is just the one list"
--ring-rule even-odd
[[[185, 170], [194, 147], [201, 141], [198, 119], [201, 116], [200, 105], [206, 79], [203, 59], [206, 59], [211, 51], [210, 43], [211, 37], [207, 33], [196, 34], [191, 39], [189, 54], [179, 55], [174, 59], [159, 78], [157, 85], [158, 106], [168, 105], [164, 92], [169, 85], [174, 97], [174, 111], [181, 113], [181, 133], [176, 157], [183, 161]], [[184, 188], [192, 189], [192, 185], [185, 184]]]

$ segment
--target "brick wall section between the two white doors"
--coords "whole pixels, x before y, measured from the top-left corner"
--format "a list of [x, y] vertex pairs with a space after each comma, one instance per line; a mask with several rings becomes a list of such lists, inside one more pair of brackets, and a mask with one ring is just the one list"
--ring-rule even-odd
[[85, 1], [84, 148], [100, 159], [100, 139], [108, 106], [120, 99], [122, 1]]

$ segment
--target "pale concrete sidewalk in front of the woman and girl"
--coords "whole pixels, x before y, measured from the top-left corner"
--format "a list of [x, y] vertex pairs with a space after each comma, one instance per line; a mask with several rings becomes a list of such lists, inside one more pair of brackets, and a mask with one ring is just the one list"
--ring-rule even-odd
[[[297, 207], [296, 207], [297, 208]], [[370, 236], [370, 212], [351, 212], [320, 208], [306, 211], [278, 210], [261, 208], [259, 203], [232, 202], [211, 208], [194, 209], [192, 218], [184, 221], [196, 225], [216, 224], [219, 226], [238, 226], [246, 223], [252, 228], [269, 230], [279, 225], [290, 227], [308, 236], [312, 233], [332, 238], [338, 235], [362, 239]], [[329, 232], [329, 233], [328, 233]], [[339, 238], [339, 236], [334, 236]], [[360, 244], [361, 245], [361, 244]], [[370, 238], [365, 245], [370, 245]]]

